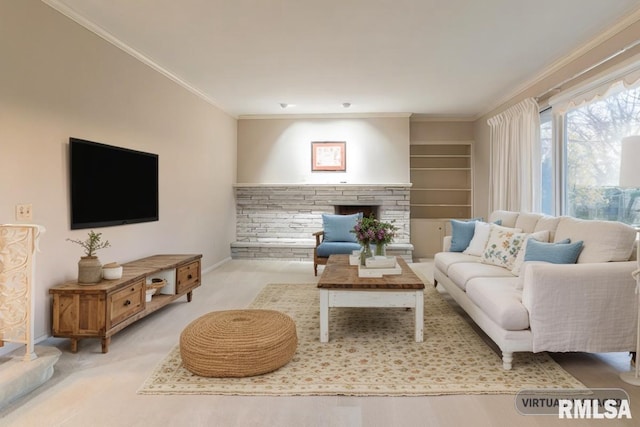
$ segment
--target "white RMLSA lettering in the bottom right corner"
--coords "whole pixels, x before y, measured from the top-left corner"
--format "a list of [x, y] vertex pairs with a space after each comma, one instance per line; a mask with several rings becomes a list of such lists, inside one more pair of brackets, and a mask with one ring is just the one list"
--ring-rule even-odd
[[558, 418], [631, 418], [627, 399], [558, 399]]

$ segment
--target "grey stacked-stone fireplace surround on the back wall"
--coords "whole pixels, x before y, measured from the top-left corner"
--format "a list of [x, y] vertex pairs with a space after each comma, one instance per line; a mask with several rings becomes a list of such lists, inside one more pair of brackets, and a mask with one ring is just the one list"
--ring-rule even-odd
[[388, 253], [411, 261], [411, 184], [236, 184], [236, 241], [232, 258], [312, 260], [322, 214], [337, 205], [373, 205], [398, 227]]

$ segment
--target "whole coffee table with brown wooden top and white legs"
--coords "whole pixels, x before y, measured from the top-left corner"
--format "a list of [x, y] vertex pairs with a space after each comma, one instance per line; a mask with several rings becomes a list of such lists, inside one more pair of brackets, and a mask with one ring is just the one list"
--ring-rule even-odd
[[331, 255], [318, 280], [320, 290], [320, 342], [329, 341], [331, 307], [410, 307], [415, 311], [416, 342], [424, 337], [424, 283], [397, 257], [402, 273], [382, 277], [358, 277], [358, 266], [349, 255]]

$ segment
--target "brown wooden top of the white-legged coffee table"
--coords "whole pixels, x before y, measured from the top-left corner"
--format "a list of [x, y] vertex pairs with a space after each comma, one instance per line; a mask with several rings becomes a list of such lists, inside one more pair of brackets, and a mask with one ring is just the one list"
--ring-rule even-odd
[[424, 283], [401, 257], [402, 274], [358, 277], [358, 266], [349, 265], [349, 255], [331, 255], [318, 280], [320, 289], [424, 289]]

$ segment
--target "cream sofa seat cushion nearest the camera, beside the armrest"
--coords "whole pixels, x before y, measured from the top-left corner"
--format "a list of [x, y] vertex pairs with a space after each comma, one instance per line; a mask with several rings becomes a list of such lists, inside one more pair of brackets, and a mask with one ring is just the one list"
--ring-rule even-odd
[[501, 328], [521, 331], [529, 327], [529, 311], [522, 305], [518, 278], [476, 278], [467, 283], [467, 296]]

